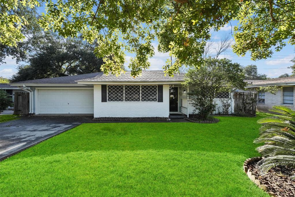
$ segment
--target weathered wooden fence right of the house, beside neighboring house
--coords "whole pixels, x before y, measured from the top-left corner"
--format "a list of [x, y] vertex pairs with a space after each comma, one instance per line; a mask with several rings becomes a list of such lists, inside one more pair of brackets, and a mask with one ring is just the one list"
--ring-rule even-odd
[[235, 114], [256, 114], [258, 93], [257, 92], [235, 92]]

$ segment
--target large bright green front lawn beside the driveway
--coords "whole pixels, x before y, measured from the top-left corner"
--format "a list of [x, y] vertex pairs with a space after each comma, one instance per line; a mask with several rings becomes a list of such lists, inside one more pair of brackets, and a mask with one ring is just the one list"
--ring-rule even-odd
[[0, 162], [5, 196], [268, 196], [243, 172], [258, 118], [89, 123]]

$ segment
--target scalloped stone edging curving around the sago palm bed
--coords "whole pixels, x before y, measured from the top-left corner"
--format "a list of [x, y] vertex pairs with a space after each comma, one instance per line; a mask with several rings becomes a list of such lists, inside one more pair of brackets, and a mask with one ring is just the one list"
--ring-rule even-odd
[[263, 158], [262, 157], [252, 157], [252, 158], [246, 159], [244, 162], [244, 166], [243, 166], [244, 172], [247, 173], [250, 180], [252, 180], [259, 188], [266, 191], [266, 193], [268, 193], [270, 196], [279, 197], [279, 196], [276, 196], [275, 193], [270, 192], [268, 186], [264, 185], [263, 182], [258, 179], [258, 177], [253, 173], [253, 171], [251, 169], [248, 169], [248, 164], [250, 164], [252, 162], [259, 162], [261, 159], [263, 159]]

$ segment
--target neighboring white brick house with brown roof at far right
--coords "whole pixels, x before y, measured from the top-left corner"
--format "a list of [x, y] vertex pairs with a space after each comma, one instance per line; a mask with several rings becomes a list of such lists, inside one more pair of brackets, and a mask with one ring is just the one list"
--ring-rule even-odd
[[[275, 105], [287, 106], [295, 110], [295, 77], [284, 77], [268, 80], [247, 80], [248, 88], [257, 88], [260, 86], [278, 86], [279, 91], [274, 95], [269, 92], [258, 93], [257, 109], [260, 111], [268, 111]], [[249, 83], [250, 82], [250, 83]]]

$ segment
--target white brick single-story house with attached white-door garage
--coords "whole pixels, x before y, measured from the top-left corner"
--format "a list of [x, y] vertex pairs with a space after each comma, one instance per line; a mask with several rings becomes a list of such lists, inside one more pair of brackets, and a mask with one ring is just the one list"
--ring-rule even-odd
[[[30, 92], [30, 113], [94, 114], [94, 117], [168, 117], [191, 113], [184, 74], [164, 76], [163, 71], [142, 71], [136, 78], [102, 72], [11, 83]], [[232, 93], [219, 98], [233, 103]], [[216, 99], [219, 104], [220, 99]], [[230, 109], [230, 113], [232, 108]]]

